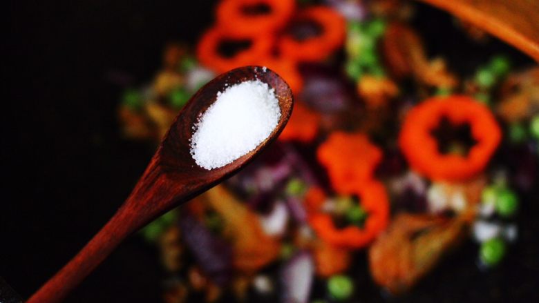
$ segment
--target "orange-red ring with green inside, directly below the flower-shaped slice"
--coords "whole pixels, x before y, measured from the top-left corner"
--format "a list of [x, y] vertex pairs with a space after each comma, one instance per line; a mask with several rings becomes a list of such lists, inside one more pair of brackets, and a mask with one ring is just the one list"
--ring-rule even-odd
[[389, 202], [383, 184], [370, 180], [359, 186], [355, 194], [360, 199], [361, 208], [368, 213], [363, 228], [354, 225], [337, 228], [330, 214], [321, 210], [309, 213], [310, 225], [325, 242], [343, 248], [363, 248], [388, 225]]

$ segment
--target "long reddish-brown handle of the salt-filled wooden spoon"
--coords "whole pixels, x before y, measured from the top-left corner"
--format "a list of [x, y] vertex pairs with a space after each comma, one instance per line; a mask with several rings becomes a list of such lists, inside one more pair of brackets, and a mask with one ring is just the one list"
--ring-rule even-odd
[[171, 185], [158, 168], [154, 157], [133, 193], [103, 228], [82, 248], [68, 264], [48, 280], [27, 303], [60, 302], [97, 265], [116, 248], [125, 237], [144, 226], [176, 203], [185, 202], [196, 192], [181, 181]]

